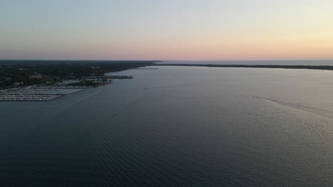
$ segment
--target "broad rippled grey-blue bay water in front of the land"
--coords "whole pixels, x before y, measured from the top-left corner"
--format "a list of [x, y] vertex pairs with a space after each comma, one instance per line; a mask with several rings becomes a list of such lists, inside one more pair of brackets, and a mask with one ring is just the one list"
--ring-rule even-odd
[[0, 103], [0, 186], [332, 186], [333, 72], [159, 67]]

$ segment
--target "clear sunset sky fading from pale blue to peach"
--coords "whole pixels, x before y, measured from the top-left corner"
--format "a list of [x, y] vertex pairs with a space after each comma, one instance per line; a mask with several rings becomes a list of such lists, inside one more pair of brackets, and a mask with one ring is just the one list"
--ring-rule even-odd
[[332, 60], [332, 0], [0, 0], [4, 60]]

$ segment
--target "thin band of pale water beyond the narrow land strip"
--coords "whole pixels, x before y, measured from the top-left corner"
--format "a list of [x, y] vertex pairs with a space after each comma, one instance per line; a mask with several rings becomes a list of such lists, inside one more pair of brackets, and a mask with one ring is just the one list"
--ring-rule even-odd
[[[160, 62], [161, 63], [161, 62]], [[231, 64], [231, 65], [310, 65], [333, 66], [333, 60], [252, 60], [252, 61], [164, 61], [167, 64]]]

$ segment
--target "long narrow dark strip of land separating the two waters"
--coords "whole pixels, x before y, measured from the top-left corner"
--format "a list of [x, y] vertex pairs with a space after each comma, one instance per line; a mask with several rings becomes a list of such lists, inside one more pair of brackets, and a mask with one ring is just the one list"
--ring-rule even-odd
[[270, 69], [316, 69], [333, 70], [333, 66], [328, 65], [245, 65], [245, 64], [162, 64], [155, 63], [154, 66], [178, 66], [178, 67], [243, 67], [243, 68], [270, 68]]

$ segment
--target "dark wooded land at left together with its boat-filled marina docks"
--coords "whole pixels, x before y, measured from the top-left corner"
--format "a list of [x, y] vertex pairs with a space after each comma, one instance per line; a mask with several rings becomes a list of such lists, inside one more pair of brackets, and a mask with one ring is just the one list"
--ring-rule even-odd
[[110, 84], [112, 79], [132, 79], [130, 75], [105, 74], [147, 67], [154, 62], [157, 61], [1, 60], [0, 101], [51, 101]]

